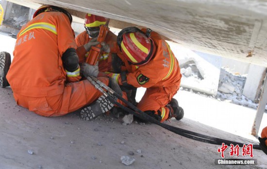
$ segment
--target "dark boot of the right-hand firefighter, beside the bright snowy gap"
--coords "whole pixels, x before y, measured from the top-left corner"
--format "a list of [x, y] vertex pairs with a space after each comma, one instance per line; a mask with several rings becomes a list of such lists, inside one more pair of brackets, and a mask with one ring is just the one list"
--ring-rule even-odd
[[166, 107], [168, 107], [170, 110], [168, 118], [176, 118], [177, 120], [184, 118], [184, 109], [179, 106], [176, 99], [171, 99]]

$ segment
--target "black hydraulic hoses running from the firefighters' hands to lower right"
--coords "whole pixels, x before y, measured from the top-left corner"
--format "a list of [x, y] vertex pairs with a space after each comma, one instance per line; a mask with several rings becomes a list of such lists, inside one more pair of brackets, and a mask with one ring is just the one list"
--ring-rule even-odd
[[[88, 79], [88, 78], [87, 78]], [[216, 144], [216, 145], [221, 145], [222, 143], [230, 146], [230, 144], [234, 144], [234, 145], [239, 145], [240, 147], [243, 147], [243, 143], [239, 143], [239, 142], [235, 142], [235, 141], [230, 141], [230, 140], [225, 140], [225, 139], [221, 139], [221, 138], [217, 138], [217, 137], [212, 137], [212, 136], [208, 136], [208, 135], [202, 135], [196, 132], [191, 132], [188, 130], [184, 130], [178, 127], [174, 127], [165, 123], [161, 123], [160, 121], [150, 117], [149, 115], [147, 115], [146, 113], [144, 113], [143, 111], [141, 111], [140, 109], [138, 109], [136, 106], [134, 106], [131, 102], [125, 100], [122, 96], [120, 96], [119, 94], [117, 94], [114, 90], [112, 90], [110, 87], [108, 87], [107, 85], [105, 85], [104, 83], [102, 83], [101, 81], [99, 81], [97, 78], [95, 77], [91, 77], [90, 79], [88, 79], [91, 83], [96, 82], [97, 84], [99, 84], [100, 86], [98, 87], [103, 87], [106, 90], [108, 90], [108, 92], [110, 92], [112, 95], [114, 95], [115, 97], [117, 97], [119, 100], [123, 101], [124, 103], [126, 103], [130, 108], [118, 103], [117, 101], [115, 101], [113, 98], [111, 98], [110, 96], [106, 96], [107, 99], [109, 99], [109, 101], [111, 101], [113, 104], [116, 104], [117, 106], [119, 106], [120, 108], [122, 108], [123, 110], [133, 114], [134, 116], [137, 116], [138, 118], [142, 118], [144, 120], [147, 120], [151, 123], [155, 123], [173, 133], [176, 133], [178, 135], [182, 135], [185, 136], [187, 138], [191, 138], [197, 141], [202, 141], [205, 143], [210, 143], [210, 144]], [[95, 85], [96, 86], [96, 85]], [[101, 91], [102, 92], [102, 91]], [[103, 92], [102, 92], [103, 93]], [[259, 145], [254, 145], [253, 144], [253, 148], [257, 149], [257, 150], [261, 150]]]

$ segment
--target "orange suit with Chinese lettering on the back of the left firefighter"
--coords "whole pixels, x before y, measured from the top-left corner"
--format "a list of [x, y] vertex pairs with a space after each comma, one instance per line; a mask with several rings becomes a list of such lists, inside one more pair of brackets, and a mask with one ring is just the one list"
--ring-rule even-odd
[[[63, 116], [95, 101], [100, 92], [79, 81], [80, 68], [67, 72], [62, 55], [77, 48], [68, 17], [44, 12], [22, 27], [7, 74], [18, 105], [41, 116]], [[100, 78], [108, 84], [107, 78]]]

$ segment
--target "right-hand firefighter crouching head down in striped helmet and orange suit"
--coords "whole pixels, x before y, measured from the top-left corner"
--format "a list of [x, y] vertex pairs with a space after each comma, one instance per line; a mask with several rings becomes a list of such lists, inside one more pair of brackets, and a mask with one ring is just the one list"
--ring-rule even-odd
[[121, 88], [147, 88], [137, 107], [161, 122], [172, 117], [182, 119], [184, 110], [173, 99], [182, 75], [167, 42], [150, 29], [129, 27], [118, 34], [117, 45], [123, 63], [120, 69], [126, 71], [110, 76]]

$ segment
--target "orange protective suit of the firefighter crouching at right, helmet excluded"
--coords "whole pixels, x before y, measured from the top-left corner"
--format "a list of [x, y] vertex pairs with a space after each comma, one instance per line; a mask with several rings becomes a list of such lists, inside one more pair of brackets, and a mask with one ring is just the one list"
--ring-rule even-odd
[[[146, 32], [145, 29], [142, 31]], [[126, 74], [127, 84], [147, 88], [137, 107], [142, 111], [155, 111], [155, 114], [161, 116], [161, 121], [164, 121], [168, 119], [169, 115], [166, 105], [179, 90], [182, 75], [178, 60], [167, 42], [155, 32], [151, 32], [151, 38], [156, 45], [156, 52], [145, 65], [137, 67], [129, 64], [118, 49], [117, 53], [125, 64], [124, 69], [128, 71]], [[120, 74], [111, 74], [110, 76], [116, 79], [119, 85], [122, 85]]]

